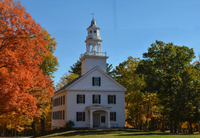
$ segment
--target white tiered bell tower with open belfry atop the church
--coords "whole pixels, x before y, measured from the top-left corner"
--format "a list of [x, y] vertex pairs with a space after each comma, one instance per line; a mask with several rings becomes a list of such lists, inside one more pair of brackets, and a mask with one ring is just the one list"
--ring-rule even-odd
[[96, 25], [94, 18], [91, 25], [87, 28], [88, 36], [86, 37], [86, 52], [81, 54], [81, 75], [86, 74], [92, 68], [98, 66], [106, 72], [106, 52], [101, 52], [100, 28]]

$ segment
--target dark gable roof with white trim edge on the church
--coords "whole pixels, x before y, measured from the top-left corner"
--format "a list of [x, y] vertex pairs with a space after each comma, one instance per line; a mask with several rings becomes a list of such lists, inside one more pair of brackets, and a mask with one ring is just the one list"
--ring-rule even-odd
[[88, 71], [86, 74], [84, 74], [83, 76], [79, 76], [76, 79], [74, 79], [73, 81], [71, 81], [70, 83], [68, 83], [67, 85], [63, 86], [61, 89], [59, 89], [58, 91], [56, 91], [55, 93], [63, 90], [63, 89], [69, 89], [70, 87], [72, 87], [73, 85], [75, 85], [76, 83], [78, 83], [79, 81], [81, 81], [82, 79], [84, 79], [85, 77], [87, 77], [89, 74], [91, 74], [93, 71], [95, 70], [99, 70], [102, 74], [104, 74], [106, 77], [108, 77], [112, 82], [114, 82], [115, 84], [117, 84], [119, 87], [121, 87], [124, 91], [126, 91], [127, 89], [124, 88], [124, 86], [122, 86], [120, 83], [118, 83], [116, 80], [114, 80], [112, 77], [110, 77], [107, 73], [105, 73], [101, 68], [99, 68], [98, 66], [92, 68], [90, 71]]

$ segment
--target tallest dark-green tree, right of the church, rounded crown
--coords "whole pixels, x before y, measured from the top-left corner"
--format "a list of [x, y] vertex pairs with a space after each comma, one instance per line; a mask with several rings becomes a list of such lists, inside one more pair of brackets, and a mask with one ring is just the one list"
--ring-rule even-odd
[[148, 52], [143, 54], [143, 58], [137, 72], [145, 75], [145, 89], [156, 93], [165, 112], [168, 112], [171, 120], [170, 131], [173, 132], [173, 121], [176, 123], [179, 116], [175, 110], [175, 97], [181, 83], [180, 75], [195, 58], [194, 51], [186, 46], [156, 41], [148, 48]]

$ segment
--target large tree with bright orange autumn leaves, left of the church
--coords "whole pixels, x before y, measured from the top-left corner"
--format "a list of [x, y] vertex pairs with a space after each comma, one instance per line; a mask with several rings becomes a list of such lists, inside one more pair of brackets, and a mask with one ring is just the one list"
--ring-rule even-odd
[[43, 75], [48, 54], [42, 28], [18, 1], [0, 1], [0, 126], [20, 128], [43, 113], [53, 82]]

